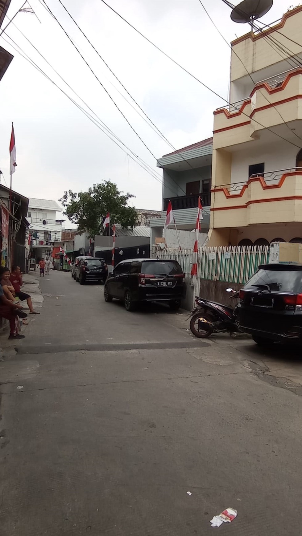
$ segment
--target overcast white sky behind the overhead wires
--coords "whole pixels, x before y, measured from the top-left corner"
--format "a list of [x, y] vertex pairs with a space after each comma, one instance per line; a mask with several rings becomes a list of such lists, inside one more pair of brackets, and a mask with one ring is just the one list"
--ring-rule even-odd
[[[120, 95], [117, 90], [130, 100], [59, 1], [46, 2], [150, 151], [157, 158], [173, 151]], [[172, 145], [180, 148], [212, 135], [212, 112], [223, 105], [222, 100], [154, 49], [101, 0], [62, 2]], [[290, 2], [274, 0], [274, 6], [262, 22], [270, 24], [281, 18]], [[0, 44], [14, 55], [0, 81], [0, 169], [6, 183], [9, 185], [13, 121], [18, 165], [13, 174], [14, 190], [27, 197], [58, 200], [64, 190], [78, 192], [110, 179], [120, 190], [135, 195], [133, 204], [137, 208], [160, 210], [161, 173], [156, 160], [130, 129], [42, 3], [42, 0], [30, 0], [41, 24], [30, 13], [18, 13], [14, 23], [108, 128], [149, 163], [159, 182], [5, 42], [4, 39], [9, 39], [2, 34]], [[188, 71], [227, 98], [230, 48], [212, 26], [198, 0], [107, 0], [107, 3]], [[8, 16], [12, 18], [22, 4], [23, 0], [12, 0]], [[248, 32], [249, 26], [231, 21], [230, 9], [222, 0], [204, 0], [204, 5], [228, 41]], [[7, 22], [5, 19], [2, 28]], [[85, 107], [13, 24], [7, 34], [57, 85]]]

